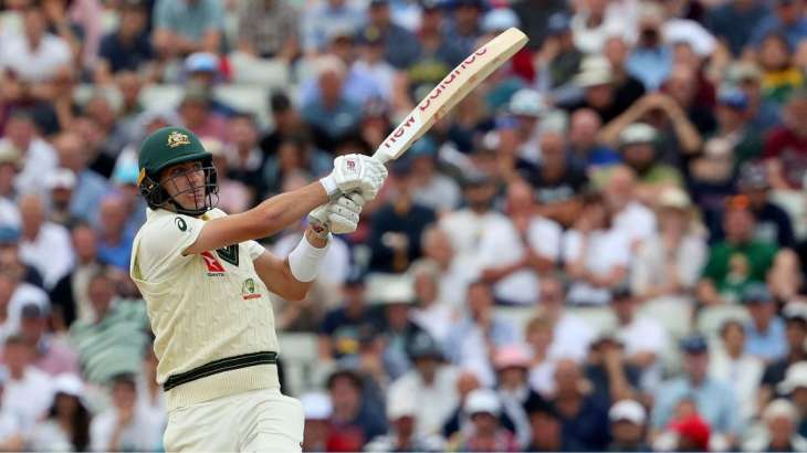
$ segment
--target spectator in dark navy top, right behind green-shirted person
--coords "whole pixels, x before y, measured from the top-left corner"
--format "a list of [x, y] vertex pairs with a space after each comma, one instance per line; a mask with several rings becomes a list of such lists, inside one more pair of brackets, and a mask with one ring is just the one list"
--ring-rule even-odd
[[793, 223], [787, 211], [771, 199], [771, 185], [762, 165], [746, 164], [741, 168], [737, 188], [748, 198], [756, 218], [754, 239], [777, 244], [779, 249], [796, 245]]

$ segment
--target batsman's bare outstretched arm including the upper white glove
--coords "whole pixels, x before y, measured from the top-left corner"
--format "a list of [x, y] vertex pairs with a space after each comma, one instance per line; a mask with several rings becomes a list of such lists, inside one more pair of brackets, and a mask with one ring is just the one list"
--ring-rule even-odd
[[340, 156], [334, 160], [334, 171], [318, 182], [272, 197], [247, 212], [206, 222], [196, 241], [182, 254], [202, 253], [272, 235], [339, 193], [358, 191], [364, 199], [371, 200], [386, 177], [384, 165], [371, 157]]

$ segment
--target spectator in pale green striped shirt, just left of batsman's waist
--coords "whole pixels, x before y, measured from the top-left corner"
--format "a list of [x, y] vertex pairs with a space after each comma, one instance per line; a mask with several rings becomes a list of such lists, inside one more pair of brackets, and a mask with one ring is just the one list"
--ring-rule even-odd
[[136, 373], [147, 340], [145, 304], [118, 299], [114, 285], [107, 272], [91, 276], [87, 297], [95, 316], [92, 320], [77, 319], [70, 328], [82, 376], [97, 384], [107, 383], [116, 375]]

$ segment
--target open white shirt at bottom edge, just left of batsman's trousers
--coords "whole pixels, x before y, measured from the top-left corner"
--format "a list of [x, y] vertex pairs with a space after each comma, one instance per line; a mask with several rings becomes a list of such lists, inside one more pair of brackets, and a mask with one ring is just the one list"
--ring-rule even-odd
[[[118, 423], [117, 410], [108, 409], [96, 415], [90, 423], [90, 450], [109, 451], [109, 442]], [[163, 424], [154, 421], [143, 408], [137, 407], [132, 421], [124, 428], [118, 440], [123, 452], [155, 451], [161, 445]]]

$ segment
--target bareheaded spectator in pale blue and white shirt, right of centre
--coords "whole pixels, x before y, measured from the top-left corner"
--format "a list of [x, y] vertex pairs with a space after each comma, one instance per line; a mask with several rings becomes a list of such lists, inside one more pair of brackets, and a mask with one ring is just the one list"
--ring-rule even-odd
[[446, 351], [452, 364], [476, 373], [490, 387], [495, 381], [491, 365], [491, 347], [516, 343], [513, 325], [493, 309], [493, 292], [484, 282], [468, 286], [465, 315], [455, 322], [446, 340]]

